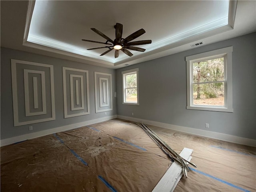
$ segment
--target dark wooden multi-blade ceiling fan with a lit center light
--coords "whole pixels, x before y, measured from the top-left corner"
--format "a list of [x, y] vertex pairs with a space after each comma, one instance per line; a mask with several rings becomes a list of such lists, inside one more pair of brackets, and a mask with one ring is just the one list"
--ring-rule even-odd
[[91, 28], [91, 30], [93, 30], [98, 35], [100, 35], [103, 38], [105, 38], [107, 41], [106, 42], [98, 42], [98, 41], [92, 41], [92, 40], [86, 40], [86, 39], [82, 39], [82, 41], [106, 44], [106, 45], [110, 45], [110, 46], [91, 48], [91, 49], [87, 49], [87, 50], [108, 48], [107, 51], [105, 51], [104, 53], [102, 53], [100, 55], [100, 56], [103, 56], [103, 55], [107, 54], [108, 52], [112, 51], [113, 49], [115, 49], [115, 58], [118, 58], [119, 50], [121, 50], [126, 55], [131, 57], [131, 56], [133, 56], [133, 54], [130, 51], [128, 51], [127, 49], [134, 50], [134, 51], [144, 52], [146, 49], [139, 48], [139, 47], [134, 47], [134, 45], [144, 45], [144, 44], [150, 44], [152, 42], [152, 40], [142, 40], [142, 41], [130, 42], [130, 41], [138, 38], [142, 34], [146, 33], [146, 31], [144, 29], [140, 29], [140, 30], [134, 32], [133, 34], [130, 34], [128, 37], [126, 37], [124, 39], [124, 38], [122, 38], [123, 25], [120, 24], [120, 23], [116, 23], [114, 28], [116, 29], [116, 38], [115, 38], [114, 41], [112, 39], [110, 39], [108, 36], [104, 35], [99, 30], [97, 30], [96, 28]]

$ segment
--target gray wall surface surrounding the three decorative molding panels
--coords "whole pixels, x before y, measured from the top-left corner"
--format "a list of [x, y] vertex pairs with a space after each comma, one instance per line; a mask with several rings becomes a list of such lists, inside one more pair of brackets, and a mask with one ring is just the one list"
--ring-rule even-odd
[[[38, 62], [54, 66], [54, 94], [56, 120], [14, 127], [10, 64], [11, 59]], [[64, 118], [62, 78], [63, 66], [89, 71], [90, 114], [71, 118]], [[1, 47], [1, 139], [6, 139], [32, 132], [38, 132], [46, 129], [106, 117], [105, 112], [95, 113], [94, 71], [112, 74], [113, 110], [107, 111], [106, 116], [116, 115], [116, 98], [114, 97], [114, 92], [116, 91], [115, 70]], [[33, 126], [32, 131], [28, 130], [29, 126]]]

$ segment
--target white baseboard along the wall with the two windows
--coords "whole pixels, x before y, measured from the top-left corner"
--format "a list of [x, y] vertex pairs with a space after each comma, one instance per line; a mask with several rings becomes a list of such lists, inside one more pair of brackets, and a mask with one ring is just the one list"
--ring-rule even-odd
[[138, 118], [133, 118], [133, 117], [128, 117], [128, 116], [118, 115], [117, 118], [124, 119], [124, 120], [130, 120], [130, 121], [134, 121], [134, 122], [142, 122], [142, 123], [145, 123], [148, 125], [171, 129], [171, 130], [175, 130], [178, 132], [185, 132], [185, 133], [189, 133], [189, 134], [193, 134], [193, 135], [204, 136], [204, 137], [218, 139], [218, 140], [227, 141], [227, 142], [231, 142], [231, 143], [256, 147], [256, 140], [254, 140], [254, 139], [243, 138], [243, 137], [238, 137], [238, 136], [234, 136], [234, 135], [228, 135], [228, 134], [206, 131], [206, 130], [201, 130], [201, 129], [177, 126], [177, 125], [161, 123], [161, 122], [156, 122], [156, 121], [150, 121], [150, 120], [145, 120], [145, 119], [138, 119]]

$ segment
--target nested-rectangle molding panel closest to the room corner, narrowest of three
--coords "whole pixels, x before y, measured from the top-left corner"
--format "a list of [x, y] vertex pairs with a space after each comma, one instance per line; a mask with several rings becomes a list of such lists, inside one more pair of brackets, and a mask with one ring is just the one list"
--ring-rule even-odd
[[94, 72], [95, 112], [112, 110], [112, 74]]

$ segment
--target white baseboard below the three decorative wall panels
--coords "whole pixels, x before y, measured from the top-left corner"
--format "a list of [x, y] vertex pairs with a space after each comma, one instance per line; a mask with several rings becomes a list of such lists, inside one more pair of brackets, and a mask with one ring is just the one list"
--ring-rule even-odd
[[75, 124], [56, 127], [56, 128], [52, 128], [52, 129], [47, 129], [47, 130], [43, 130], [43, 131], [38, 131], [38, 132], [30, 133], [30, 134], [25, 134], [25, 135], [11, 137], [11, 138], [7, 138], [7, 139], [2, 139], [2, 140], [0, 140], [0, 146], [2, 147], [5, 145], [16, 143], [16, 142], [33, 139], [33, 138], [37, 138], [37, 137], [41, 137], [41, 136], [45, 136], [45, 135], [49, 135], [49, 134], [54, 134], [57, 132], [67, 131], [67, 130], [71, 130], [74, 128], [87, 126], [90, 124], [99, 123], [102, 121], [107, 121], [107, 120], [115, 119], [115, 118], [117, 118], [117, 116], [112, 115], [112, 116], [107, 116], [107, 117], [103, 117], [103, 118], [98, 118], [98, 119], [88, 120], [88, 121], [79, 122], [79, 123], [75, 123]]

